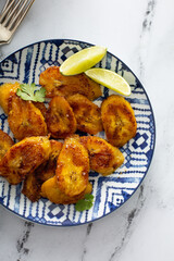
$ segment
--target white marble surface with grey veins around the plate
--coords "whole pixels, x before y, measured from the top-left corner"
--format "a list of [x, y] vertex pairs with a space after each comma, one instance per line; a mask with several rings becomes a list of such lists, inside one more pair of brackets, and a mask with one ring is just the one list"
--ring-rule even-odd
[[0, 47], [1, 60], [51, 38], [108, 47], [145, 86], [157, 126], [146, 178], [112, 214], [83, 226], [47, 227], [0, 206], [0, 260], [174, 260], [173, 10], [173, 0], [36, 0], [11, 44]]

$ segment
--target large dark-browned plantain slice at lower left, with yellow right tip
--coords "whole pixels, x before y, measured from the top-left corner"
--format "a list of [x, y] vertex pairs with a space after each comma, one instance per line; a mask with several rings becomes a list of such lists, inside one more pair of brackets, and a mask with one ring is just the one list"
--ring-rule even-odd
[[49, 159], [51, 151], [48, 137], [28, 137], [13, 145], [0, 162], [0, 175], [10, 184], [21, 183]]

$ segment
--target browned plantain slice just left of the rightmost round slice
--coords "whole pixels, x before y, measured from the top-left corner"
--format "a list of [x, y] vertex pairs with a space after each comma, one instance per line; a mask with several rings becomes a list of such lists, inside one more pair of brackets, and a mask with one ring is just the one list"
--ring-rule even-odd
[[97, 134], [103, 129], [101, 121], [101, 110], [83, 95], [74, 95], [67, 98], [77, 121], [77, 129]]

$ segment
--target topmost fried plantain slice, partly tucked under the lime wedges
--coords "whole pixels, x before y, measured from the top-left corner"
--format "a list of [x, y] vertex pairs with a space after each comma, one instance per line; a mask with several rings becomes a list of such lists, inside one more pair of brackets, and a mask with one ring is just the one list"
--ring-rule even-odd
[[89, 100], [95, 100], [101, 96], [100, 85], [84, 73], [75, 76], [64, 76], [60, 73], [59, 66], [51, 66], [42, 72], [39, 84], [46, 88], [48, 98], [80, 94]]

